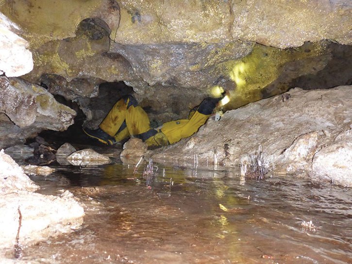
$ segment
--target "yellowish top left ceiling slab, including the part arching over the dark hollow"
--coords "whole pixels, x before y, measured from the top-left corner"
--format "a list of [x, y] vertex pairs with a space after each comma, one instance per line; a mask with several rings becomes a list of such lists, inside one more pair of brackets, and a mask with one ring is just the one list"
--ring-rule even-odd
[[[53, 14], [52, 10], [55, 10]], [[86, 18], [101, 20], [115, 37], [119, 24], [119, 6], [114, 0], [71, 1], [60, 5], [46, 0], [0, 2], [0, 11], [26, 29], [25, 37], [32, 47], [56, 39], [74, 37], [77, 25]]]

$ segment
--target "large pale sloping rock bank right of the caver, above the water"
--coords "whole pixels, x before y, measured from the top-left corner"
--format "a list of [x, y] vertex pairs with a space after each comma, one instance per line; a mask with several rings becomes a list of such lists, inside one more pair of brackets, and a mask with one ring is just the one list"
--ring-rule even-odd
[[[346, 166], [351, 161], [346, 154], [350, 138], [341, 136], [341, 143], [333, 141], [352, 126], [351, 89], [352, 86], [309, 91], [295, 88], [289, 91], [287, 100], [275, 96], [228, 111], [219, 121], [210, 118], [191, 138], [160, 153], [149, 153], [154, 162], [172, 165], [193, 165], [197, 155], [199, 164], [212, 165], [217, 160], [218, 164], [238, 166], [243, 154], [255, 153], [261, 146], [268, 162], [275, 164], [274, 172], [305, 170], [304, 175], [308, 175], [314, 157], [314, 178], [319, 173], [324, 178], [335, 168], [337, 173], [332, 173], [330, 179], [335, 184], [351, 186], [350, 167]], [[331, 161], [326, 171], [318, 169], [322, 157], [332, 155], [329, 153], [334, 149], [338, 153], [338, 146], [345, 146], [341, 149], [341, 154], [345, 153], [341, 162]]]

